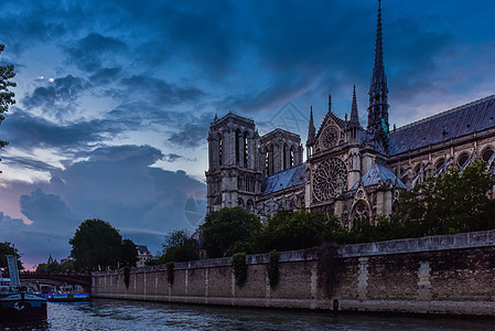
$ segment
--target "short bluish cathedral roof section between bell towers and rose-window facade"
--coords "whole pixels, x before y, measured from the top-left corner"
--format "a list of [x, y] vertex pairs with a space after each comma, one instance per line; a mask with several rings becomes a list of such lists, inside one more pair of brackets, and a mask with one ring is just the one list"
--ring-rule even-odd
[[306, 178], [306, 164], [289, 168], [267, 177], [261, 183], [261, 195], [303, 184]]

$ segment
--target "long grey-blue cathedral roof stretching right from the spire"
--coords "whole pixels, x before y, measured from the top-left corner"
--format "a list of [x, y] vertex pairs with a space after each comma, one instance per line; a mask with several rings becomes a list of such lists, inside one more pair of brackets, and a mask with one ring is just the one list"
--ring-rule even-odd
[[495, 95], [427, 117], [390, 134], [390, 156], [495, 127]]

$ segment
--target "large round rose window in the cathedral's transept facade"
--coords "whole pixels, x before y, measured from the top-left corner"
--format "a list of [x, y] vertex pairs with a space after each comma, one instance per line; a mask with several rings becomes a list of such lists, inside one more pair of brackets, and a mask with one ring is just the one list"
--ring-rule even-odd
[[313, 195], [318, 201], [336, 197], [347, 184], [344, 161], [332, 158], [318, 166], [313, 173]]

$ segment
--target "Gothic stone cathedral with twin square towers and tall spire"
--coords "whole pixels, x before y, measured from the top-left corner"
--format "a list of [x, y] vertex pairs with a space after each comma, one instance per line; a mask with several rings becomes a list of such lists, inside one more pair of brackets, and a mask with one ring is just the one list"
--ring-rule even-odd
[[378, 6], [368, 122], [358, 119], [354, 89], [351, 116], [329, 111], [316, 130], [311, 110], [306, 161], [301, 138], [275, 129], [259, 136], [252, 119], [233, 113], [209, 126], [207, 213], [240, 205], [262, 221], [278, 210], [323, 211], [345, 226], [394, 213], [399, 189], [410, 189], [475, 159], [494, 173], [495, 96], [389, 129], [381, 9]]

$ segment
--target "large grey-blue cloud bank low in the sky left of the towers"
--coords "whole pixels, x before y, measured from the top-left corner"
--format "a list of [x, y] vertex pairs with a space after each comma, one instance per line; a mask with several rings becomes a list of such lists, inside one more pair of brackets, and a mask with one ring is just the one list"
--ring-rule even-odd
[[[53, 170], [50, 184], [43, 189], [32, 184], [32, 191], [20, 197], [21, 211], [31, 225], [0, 213], [0, 241], [14, 242], [37, 263], [49, 254], [61, 258], [69, 254], [68, 239], [80, 222], [96, 217], [157, 252], [168, 232], [194, 229], [202, 220], [191, 223], [186, 203], [191, 199], [202, 202], [206, 185], [184, 171], [152, 168], [163, 158], [160, 150], [150, 146], [104, 147], [85, 157], [86, 161]], [[204, 212], [202, 205], [197, 213]], [[3, 238], [7, 232], [9, 237]]]

